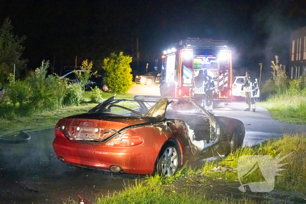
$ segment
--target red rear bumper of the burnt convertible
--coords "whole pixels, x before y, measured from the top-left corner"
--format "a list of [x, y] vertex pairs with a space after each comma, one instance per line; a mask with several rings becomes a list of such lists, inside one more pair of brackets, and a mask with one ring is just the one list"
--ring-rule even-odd
[[57, 159], [70, 165], [104, 171], [119, 166], [125, 173], [152, 174], [161, 147], [107, 147], [55, 138], [53, 148]]

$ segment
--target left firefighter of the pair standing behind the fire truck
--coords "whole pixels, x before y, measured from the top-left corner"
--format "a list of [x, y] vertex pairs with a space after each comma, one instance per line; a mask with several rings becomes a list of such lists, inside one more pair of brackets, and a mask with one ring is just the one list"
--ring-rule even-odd
[[202, 106], [205, 98], [205, 83], [207, 78], [203, 75], [203, 69], [200, 69], [198, 76], [194, 78], [194, 101]]

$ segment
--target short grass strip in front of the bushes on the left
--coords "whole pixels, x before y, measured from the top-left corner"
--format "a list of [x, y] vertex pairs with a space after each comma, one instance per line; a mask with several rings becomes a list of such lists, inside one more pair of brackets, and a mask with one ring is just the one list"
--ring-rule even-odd
[[[112, 96], [114, 96], [112, 93], [103, 92], [102, 94], [104, 100]], [[134, 95], [128, 93], [116, 94], [116, 98], [133, 99]], [[64, 106], [55, 111], [33, 113], [31, 116], [24, 117], [18, 116], [15, 120], [0, 119], [0, 134], [14, 130], [43, 128], [55, 125], [61, 118], [86, 113], [97, 105], [96, 103], [89, 102], [89, 100], [89, 91], [85, 91], [84, 101], [81, 102], [80, 106]]]

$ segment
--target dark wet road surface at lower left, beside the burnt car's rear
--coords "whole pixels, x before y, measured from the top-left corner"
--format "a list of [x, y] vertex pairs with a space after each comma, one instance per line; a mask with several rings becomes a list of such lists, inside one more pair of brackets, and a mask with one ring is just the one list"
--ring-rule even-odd
[[30, 133], [24, 144], [0, 143], [0, 203], [63, 203], [80, 194], [95, 201], [96, 195], [123, 189], [138, 175], [111, 174], [71, 167], [56, 159], [54, 129]]

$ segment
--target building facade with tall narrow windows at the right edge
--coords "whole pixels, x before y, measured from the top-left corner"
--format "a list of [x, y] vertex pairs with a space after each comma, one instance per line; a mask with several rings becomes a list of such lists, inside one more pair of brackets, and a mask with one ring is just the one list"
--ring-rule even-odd
[[306, 27], [295, 30], [290, 37], [289, 76], [297, 79], [306, 71]]

